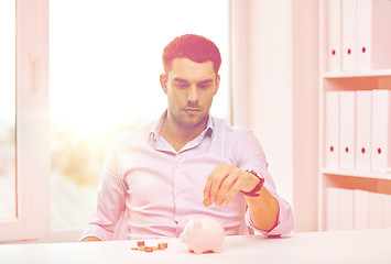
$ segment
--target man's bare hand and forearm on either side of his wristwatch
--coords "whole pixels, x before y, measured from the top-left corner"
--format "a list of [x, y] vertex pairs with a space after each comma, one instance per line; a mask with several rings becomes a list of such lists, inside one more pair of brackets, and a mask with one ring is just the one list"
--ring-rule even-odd
[[[204, 204], [228, 205], [239, 190], [251, 191], [259, 180], [257, 176], [232, 165], [219, 164], [205, 185]], [[258, 229], [270, 231], [278, 224], [279, 201], [265, 187], [257, 194], [258, 197], [246, 197], [251, 220]]]

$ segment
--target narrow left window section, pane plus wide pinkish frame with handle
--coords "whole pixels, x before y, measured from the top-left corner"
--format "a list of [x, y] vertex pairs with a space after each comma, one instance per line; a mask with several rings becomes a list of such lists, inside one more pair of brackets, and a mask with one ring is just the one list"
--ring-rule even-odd
[[31, 240], [48, 226], [47, 0], [1, 1], [0, 20], [1, 148], [8, 160], [1, 169], [10, 191], [0, 241]]

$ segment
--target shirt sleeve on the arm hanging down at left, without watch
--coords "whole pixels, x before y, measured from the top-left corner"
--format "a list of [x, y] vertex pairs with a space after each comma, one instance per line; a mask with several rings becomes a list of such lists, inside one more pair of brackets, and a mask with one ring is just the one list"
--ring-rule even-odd
[[83, 230], [80, 240], [87, 237], [112, 240], [117, 222], [124, 210], [126, 188], [119, 176], [115, 144], [106, 157], [97, 199], [97, 209], [89, 224]]

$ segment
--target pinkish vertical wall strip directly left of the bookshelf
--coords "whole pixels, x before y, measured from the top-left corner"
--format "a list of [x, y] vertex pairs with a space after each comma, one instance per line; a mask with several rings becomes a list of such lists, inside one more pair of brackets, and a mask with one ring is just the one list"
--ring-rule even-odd
[[296, 231], [317, 230], [319, 1], [293, 1], [293, 205]]

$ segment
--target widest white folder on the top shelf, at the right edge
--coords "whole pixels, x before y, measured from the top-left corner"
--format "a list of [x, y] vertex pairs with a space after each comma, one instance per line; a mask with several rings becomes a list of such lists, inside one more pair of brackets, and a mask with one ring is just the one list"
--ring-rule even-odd
[[357, 0], [357, 69], [391, 67], [391, 1]]

